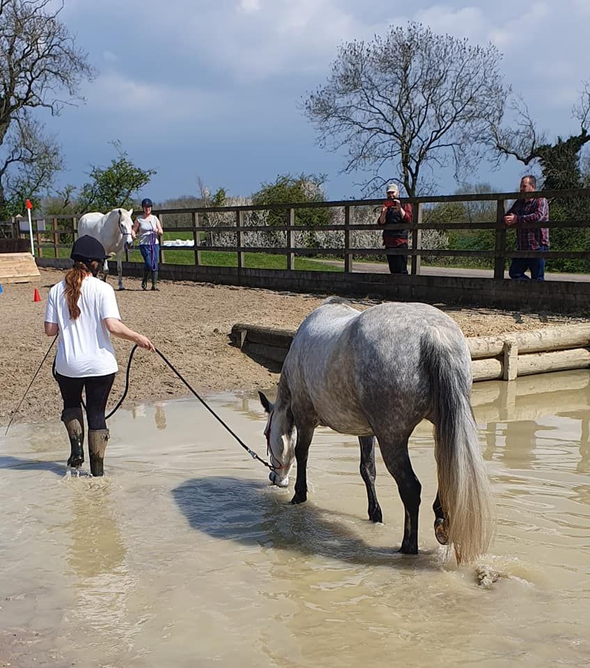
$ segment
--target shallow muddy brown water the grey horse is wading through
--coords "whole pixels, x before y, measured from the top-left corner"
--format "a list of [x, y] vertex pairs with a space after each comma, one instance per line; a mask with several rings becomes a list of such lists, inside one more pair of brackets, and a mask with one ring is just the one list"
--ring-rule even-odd
[[[433, 535], [428, 424], [411, 443], [417, 557], [396, 553], [402, 509], [380, 459], [385, 523], [371, 525], [357, 443], [327, 429], [310, 500], [291, 507], [194, 400], [118, 411], [103, 479], [66, 474], [60, 422], [14, 427], [0, 440], [0, 665], [583, 665], [589, 378], [475, 386], [497, 534], [459, 570]], [[263, 451], [254, 397], [212, 406]], [[482, 587], [476, 566], [501, 577]]]

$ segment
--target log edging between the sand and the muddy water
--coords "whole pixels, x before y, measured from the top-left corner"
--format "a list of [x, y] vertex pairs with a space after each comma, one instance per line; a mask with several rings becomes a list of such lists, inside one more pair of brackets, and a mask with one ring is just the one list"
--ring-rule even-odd
[[[295, 331], [236, 323], [228, 336], [244, 353], [282, 364]], [[590, 323], [467, 337], [467, 345], [474, 382], [590, 367]]]

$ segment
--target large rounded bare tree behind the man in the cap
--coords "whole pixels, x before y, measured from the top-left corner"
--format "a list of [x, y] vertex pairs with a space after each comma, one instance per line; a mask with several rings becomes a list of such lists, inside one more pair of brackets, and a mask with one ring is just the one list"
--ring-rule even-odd
[[424, 168], [435, 175], [452, 164], [458, 176], [481, 159], [509, 94], [501, 58], [492, 45], [472, 46], [421, 24], [391, 26], [371, 42], [339, 47], [304, 112], [320, 145], [346, 150], [345, 173], [372, 172], [367, 192], [398, 174], [415, 196]]

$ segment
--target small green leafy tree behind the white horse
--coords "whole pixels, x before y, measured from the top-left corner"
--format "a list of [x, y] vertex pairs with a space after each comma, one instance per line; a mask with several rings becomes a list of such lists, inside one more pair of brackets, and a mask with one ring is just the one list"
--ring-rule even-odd
[[131, 207], [133, 193], [150, 182], [157, 172], [143, 170], [130, 161], [127, 152], [121, 150], [121, 143], [112, 142], [118, 157], [111, 160], [107, 168], [93, 166], [91, 182], [84, 184], [79, 196], [80, 212], [109, 211], [115, 207]]

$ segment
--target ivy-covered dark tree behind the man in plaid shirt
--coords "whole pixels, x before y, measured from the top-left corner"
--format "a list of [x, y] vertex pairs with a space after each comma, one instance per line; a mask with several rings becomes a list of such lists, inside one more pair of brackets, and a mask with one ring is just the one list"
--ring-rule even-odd
[[[590, 142], [590, 83], [584, 84], [580, 102], [572, 109], [580, 122], [580, 133], [564, 139], [560, 136], [551, 142], [545, 132], [540, 132], [532, 120], [523, 100], [511, 104], [517, 122], [508, 127], [492, 127], [492, 137], [498, 161], [514, 157], [527, 166], [538, 165], [545, 190], [582, 188], [587, 183], [582, 175], [580, 152]], [[540, 189], [540, 188], [539, 188]], [[585, 197], [557, 197], [550, 201], [550, 220], [589, 221], [590, 202]], [[589, 228], [554, 228], [550, 233], [554, 250], [588, 250]], [[548, 260], [548, 268], [554, 271], [588, 271], [590, 262], [578, 260]]]

